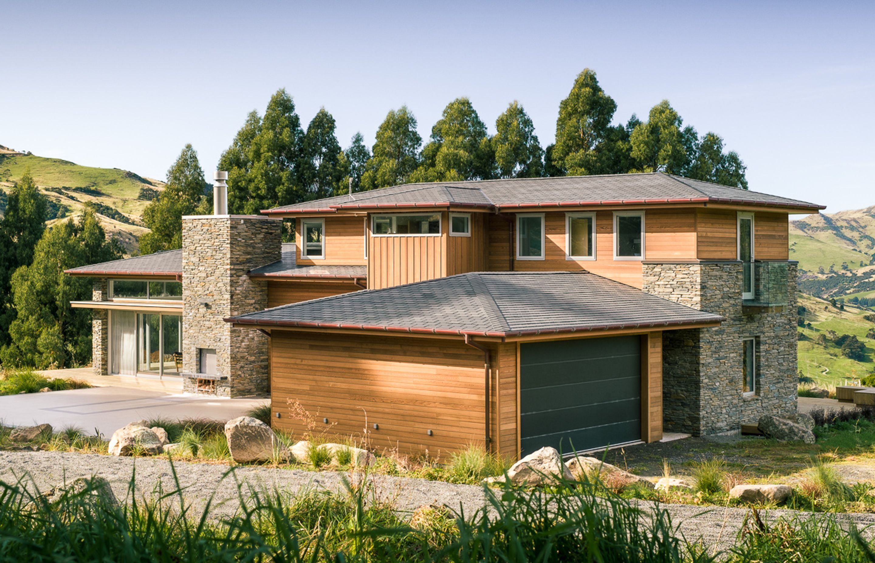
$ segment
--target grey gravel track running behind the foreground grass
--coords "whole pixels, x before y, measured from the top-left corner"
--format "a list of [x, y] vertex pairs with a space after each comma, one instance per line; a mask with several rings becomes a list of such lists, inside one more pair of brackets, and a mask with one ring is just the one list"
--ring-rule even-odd
[[[214, 503], [223, 513], [234, 511], [237, 488], [234, 478], [222, 476], [227, 465], [175, 462], [179, 482], [185, 487], [186, 501], [193, 507], [202, 506], [214, 495]], [[76, 477], [102, 476], [112, 485], [116, 497], [126, 496], [131, 470], [136, 469], [137, 491], [149, 496], [163, 483], [172, 490], [170, 463], [155, 458], [114, 457], [109, 455], [76, 454], [67, 452], [0, 451], [0, 480], [7, 483], [18, 476], [28, 475], [31, 483], [40, 490], [71, 481]], [[274, 488], [294, 493], [307, 488], [343, 490], [341, 473], [332, 471], [304, 471], [300, 469], [271, 469], [240, 466], [234, 475], [256, 488]], [[479, 486], [458, 485], [408, 477], [372, 476], [376, 495], [392, 501], [399, 511], [413, 511], [423, 504], [445, 504], [454, 510], [459, 508], [471, 514], [485, 503], [485, 495]], [[650, 506], [641, 503], [642, 506]], [[665, 504], [672, 521], [684, 537], [701, 542], [704, 546], [725, 549], [732, 546], [744, 520], [746, 510], [739, 508], [714, 508], [686, 504]], [[779, 516], [801, 515], [795, 511], [761, 511], [762, 518], [772, 520]], [[804, 516], [804, 513], [802, 513]], [[844, 522], [854, 522], [860, 528], [875, 525], [875, 514], [839, 515]], [[866, 535], [875, 535], [875, 529]]]

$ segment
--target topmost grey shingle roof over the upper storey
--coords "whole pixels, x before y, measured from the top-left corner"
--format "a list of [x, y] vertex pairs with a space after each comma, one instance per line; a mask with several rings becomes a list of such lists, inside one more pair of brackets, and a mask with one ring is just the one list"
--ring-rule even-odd
[[336, 212], [416, 206], [478, 206], [489, 209], [556, 205], [736, 203], [823, 209], [823, 205], [741, 190], [663, 173], [515, 178], [472, 182], [405, 184], [318, 199], [265, 213]]

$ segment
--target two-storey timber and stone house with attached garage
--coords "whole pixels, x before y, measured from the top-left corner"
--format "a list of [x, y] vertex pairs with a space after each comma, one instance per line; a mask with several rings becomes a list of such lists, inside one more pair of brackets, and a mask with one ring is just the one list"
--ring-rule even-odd
[[406, 184], [186, 217], [179, 251], [70, 270], [73, 305], [97, 372], [409, 453], [738, 433], [795, 412], [788, 215], [820, 209], [662, 173]]

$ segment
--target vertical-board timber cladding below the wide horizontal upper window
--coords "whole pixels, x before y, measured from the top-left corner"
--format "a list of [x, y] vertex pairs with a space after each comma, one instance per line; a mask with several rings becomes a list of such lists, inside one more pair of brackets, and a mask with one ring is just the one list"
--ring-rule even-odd
[[447, 214], [441, 213], [439, 235], [369, 237], [368, 288], [393, 288], [447, 275]]

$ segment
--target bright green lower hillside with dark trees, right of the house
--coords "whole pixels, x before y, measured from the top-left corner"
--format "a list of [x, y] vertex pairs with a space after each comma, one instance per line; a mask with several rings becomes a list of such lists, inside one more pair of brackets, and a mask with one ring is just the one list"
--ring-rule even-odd
[[[821, 386], [844, 385], [845, 379], [862, 377], [872, 373], [875, 368], [875, 319], [872, 311], [857, 309], [846, 305], [844, 311], [830, 305], [830, 302], [799, 295], [800, 315], [811, 328], [799, 328], [804, 337], [799, 340], [799, 371], [815, 379]], [[805, 309], [803, 310], [802, 307]], [[837, 337], [850, 334], [865, 344], [863, 359], [847, 358], [841, 347], [830, 338], [830, 330]], [[822, 337], [823, 335], [823, 337]], [[823, 341], [826, 342], [823, 342]]]

